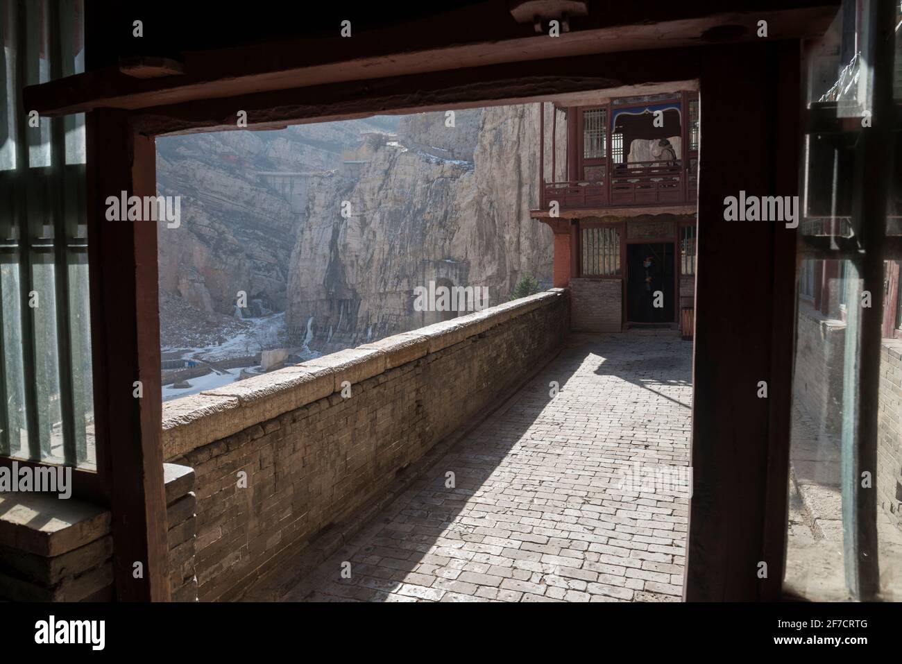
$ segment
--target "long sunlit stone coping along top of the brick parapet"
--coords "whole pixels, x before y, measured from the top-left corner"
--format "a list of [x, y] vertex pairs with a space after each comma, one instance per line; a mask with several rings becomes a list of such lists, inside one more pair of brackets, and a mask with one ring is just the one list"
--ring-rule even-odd
[[215, 440], [227, 438], [282, 413], [341, 392], [342, 383], [361, 383], [388, 369], [549, 306], [566, 295], [553, 288], [528, 298], [446, 320], [371, 344], [323, 355], [301, 364], [253, 376], [216, 390], [163, 403], [163, 457], [173, 459]]

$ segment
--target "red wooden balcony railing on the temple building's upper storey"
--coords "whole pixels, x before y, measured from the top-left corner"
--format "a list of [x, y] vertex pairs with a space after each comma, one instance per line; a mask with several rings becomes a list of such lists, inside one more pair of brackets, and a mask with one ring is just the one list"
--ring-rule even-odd
[[691, 205], [697, 198], [698, 158], [686, 161], [633, 161], [599, 169], [591, 180], [543, 182], [542, 209], [557, 200], [559, 209], [630, 208]]

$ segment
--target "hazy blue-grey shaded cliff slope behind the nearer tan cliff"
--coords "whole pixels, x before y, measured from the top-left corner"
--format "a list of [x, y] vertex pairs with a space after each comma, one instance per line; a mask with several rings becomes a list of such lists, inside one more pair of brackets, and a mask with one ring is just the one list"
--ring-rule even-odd
[[161, 291], [229, 316], [238, 291], [245, 314], [285, 310], [298, 218], [292, 180], [267, 173], [336, 169], [346, 145], [380, 128], [349, 121], [158, 139], [159, 193], [182, 197], [180, 226], [160, 229]]

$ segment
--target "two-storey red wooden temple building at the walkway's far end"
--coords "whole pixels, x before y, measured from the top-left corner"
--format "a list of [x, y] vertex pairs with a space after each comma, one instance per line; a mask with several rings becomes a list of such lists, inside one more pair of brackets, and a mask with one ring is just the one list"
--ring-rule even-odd
[[691, 338], [698, 93], [585, 101], [540, 114], [531, 214], [555, 234], [554, 284], [573, 292], [575, 329], [680, 327]]

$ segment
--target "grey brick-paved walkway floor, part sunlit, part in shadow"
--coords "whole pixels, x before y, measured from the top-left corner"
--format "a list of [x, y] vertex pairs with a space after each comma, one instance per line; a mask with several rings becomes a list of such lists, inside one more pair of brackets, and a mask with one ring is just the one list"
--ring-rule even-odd
[[671, 332], [570, 337], [283, 600], [678, 601], [685, 488], [623, 479], [686, 476], [675, 466], [688, 464], [691, 356]]

